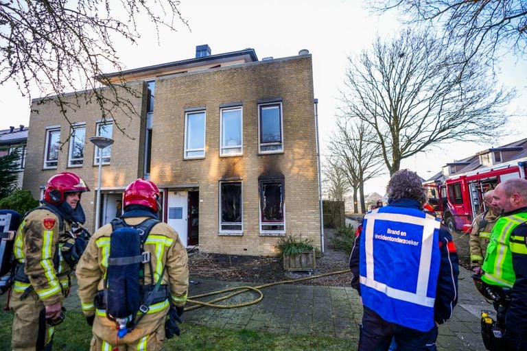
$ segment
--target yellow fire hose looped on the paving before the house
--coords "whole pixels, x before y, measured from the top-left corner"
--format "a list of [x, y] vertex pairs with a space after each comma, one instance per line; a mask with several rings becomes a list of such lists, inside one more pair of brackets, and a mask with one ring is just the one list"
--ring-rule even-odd
[[[233, 288], [229, 288], [229, 289], [223, 289], [223, 290], [218, 290], [218, 291], [211, 291], [210, 293], [202, 293], [201, 295], [191, 296], [190, 298], [187, 299], [187, 302], [191, 302], [191, 303], [196, 304], [196, 305], [190, 306], [190, 307], [186, 307], [185, 311], [195, 310], [195, 309], [201, 308], [203, 306], [214, 307], [214, 308], [238, 308], [238, 307], [250, 306], [251, 304], [257, 304], [258, 302], [261, 301], [261, 299], [264, 298], [264, 293], [262, 293], [260, 289], [264, 289], [266, 287], [272, 287], [273, 285], [288, 284], [288, 283], [293, 283], [293, 282], [301, 282], [303, 280], [315, 279], [315, 278], [320, 278], [320, 277], [325, 277], [325, 276], [333, 276], [334, 274], [342, 274], [342, 273], [348, 273], [348, 272], [349, 272], [349, 269], [345, 269], [344, 271], [333, 271], [331, 273], [319, 274], [318, 276], [309, 276], [309, 277], [298, 278], [298, 279], [293, 279], [293, 280], [282, 280], [281, 282], [270, 282], [268, 284], [259, 285], [258, 287], [249, 287], [249, 286], [246, 285], [246, 286], [243, 286], [243, 287], [233, 287]], [[239, 291], [236, 291], [236, 290], [239, 290]], [[206, 296], [218, 295], [220, 293], [228, 293], [229, 291], [236, 291], [236, 292], [235, 293], [231, 293], [231, 294], [226, 295], [226, 296], [223, 296], [222, 298], [216, 298], [216, 299], [208, 301], [208, 302], [202, 302], [202, 301], [194, 300], [194, 299], [198, 299], [198, 298], [204, 298]], [[254, 291], [255, 293], [257, 293], [259, 295], [259, 297], [256, 298], [253, 301], [243, 302], [241, 304], [216, 304], [216, 302], [220, 302], [220, 301], [232, 298], [235, 295], [239, 295], [240, 293], [246, 293], [247, 291]]]

